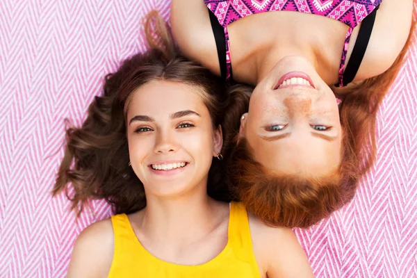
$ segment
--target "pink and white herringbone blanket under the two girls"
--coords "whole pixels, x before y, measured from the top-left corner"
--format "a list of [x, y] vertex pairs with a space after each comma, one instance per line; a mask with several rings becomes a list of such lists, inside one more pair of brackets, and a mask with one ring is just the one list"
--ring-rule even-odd
[[[197, 0], [196, 0], [197, 1]], [[0, 277], [64, 277], [78, 222], [51, 199], [64, 119], [81, 124], [103, 77], [145, 51], [142, 17], [169, 0], [0, 1]], [[317, 277], [417, 277], [417, 45], [379, 111], [378, 160], [351, 204], [295, 231]]]

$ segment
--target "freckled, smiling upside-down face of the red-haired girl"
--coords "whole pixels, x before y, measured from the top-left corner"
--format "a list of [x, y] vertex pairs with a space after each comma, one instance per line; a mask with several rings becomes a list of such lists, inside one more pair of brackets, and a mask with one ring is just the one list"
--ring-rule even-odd
[[304, 58], [288, 56], [252, 94], [241, 122], [256, 159], [277, 173], [321, 175], [341, 163], [338, 103]]

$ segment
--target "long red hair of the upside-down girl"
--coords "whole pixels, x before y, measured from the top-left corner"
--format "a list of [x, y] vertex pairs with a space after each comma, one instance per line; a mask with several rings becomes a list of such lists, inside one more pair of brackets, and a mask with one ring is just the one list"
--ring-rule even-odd
[[[345, 95], [339, 106], [343, 141], [338, 170], [325, 177], [274, 174], [256, 161], [244, 138], [230, 150], [231, 188], [248, 211], [271, 226], [307, 228], [352, 200], [359, 179], [375, 161], [377, 111], [404, 62], [414, 26], [415, 18], [406, 44], [389, 70], [347, 88], [333, 88], [336, 95]], [[241, 85], [233, 90], [251, 88]], [[237, 139], [235, 134], [231, 142]]]

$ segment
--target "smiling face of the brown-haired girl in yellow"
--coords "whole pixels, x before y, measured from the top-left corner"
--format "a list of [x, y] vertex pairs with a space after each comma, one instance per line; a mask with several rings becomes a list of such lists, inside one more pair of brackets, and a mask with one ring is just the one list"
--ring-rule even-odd
[[174, 197], [206, 186], [213, 156], [222, 148], [198, 88], [152, 81], [132, 92], [127, 138], [133, 171], [147, 195]]

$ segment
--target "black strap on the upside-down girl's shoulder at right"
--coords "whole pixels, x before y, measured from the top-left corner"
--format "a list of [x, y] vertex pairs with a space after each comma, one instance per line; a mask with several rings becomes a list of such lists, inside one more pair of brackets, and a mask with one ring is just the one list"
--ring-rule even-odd
[[347, 85], [352, 82], [354, 76], [356, 76], [359, 67], [362, 63], [363, 56], [365, 56], [366, 48], [370, 40], [370, 35], [375, 23], [375, 17], [377, 16], [377, 10], [379, 5], [365, 17], [362, 21], [361, 28], [359, 29], [358, 38], [354, 44], [352, 55], [350, 56], [349, 63], [346, 66], [346, 70], [343, 73], [343, 85]]

